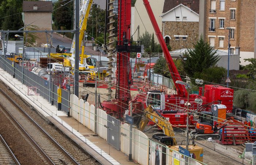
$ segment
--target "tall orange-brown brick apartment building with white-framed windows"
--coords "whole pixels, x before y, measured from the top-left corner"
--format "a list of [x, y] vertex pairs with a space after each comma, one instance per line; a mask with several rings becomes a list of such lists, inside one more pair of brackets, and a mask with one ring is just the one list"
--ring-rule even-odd
[[256, 58], [255, 6], [256, 0], [200, 0], [199, 35], [225, 52], [230, 43], [230, 55], [240, 53], [247, 65], [245, 58]]

